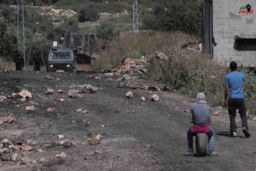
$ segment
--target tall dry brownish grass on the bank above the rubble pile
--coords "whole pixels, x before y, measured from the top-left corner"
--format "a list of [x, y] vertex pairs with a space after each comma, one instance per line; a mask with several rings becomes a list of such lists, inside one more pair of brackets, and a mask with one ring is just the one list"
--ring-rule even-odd
[[193, 38], [181, 32], [156, 32], [153, 35], [124, 33], [120, 40], [110, 44], [106, 51], [102, 51], [96, 63], [97, 69], [116, 67], [126, 58], [140, 58], [151, 55], [154, 51], [166, 48], [180, 48], [184, 43], [193, 41]]

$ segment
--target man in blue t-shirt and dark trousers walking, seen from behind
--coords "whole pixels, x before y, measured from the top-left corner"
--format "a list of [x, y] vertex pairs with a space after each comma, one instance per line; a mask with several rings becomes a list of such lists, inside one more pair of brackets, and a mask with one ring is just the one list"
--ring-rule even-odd
[[[242, 72], [237, 71], [237, 63], [230, 63], [231, 72], [225, 77], [225, 99], [224, 104], [228, 104], [228, 113], [230, 118], [230, 137], [237, 136], [236, 111], [242, 120], [242, 131], [246, 138], [250, 137], [247, 127], [246, 106], [244, 101], [245, 76]], [[227, 100], [229, 94], [229, 98]]]

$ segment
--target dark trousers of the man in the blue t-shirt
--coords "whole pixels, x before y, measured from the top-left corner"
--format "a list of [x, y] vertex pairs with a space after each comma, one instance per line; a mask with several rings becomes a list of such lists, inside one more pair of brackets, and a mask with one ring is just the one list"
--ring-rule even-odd
[[230, 119], [230, 133], [237, 131], [236, 125], [236, 111], [239, 110], [239, 114], [242, 120], [242, 127], [247, 128], [247, 116], [246, 106], [244, 98], [228, 99], [228, 114]]

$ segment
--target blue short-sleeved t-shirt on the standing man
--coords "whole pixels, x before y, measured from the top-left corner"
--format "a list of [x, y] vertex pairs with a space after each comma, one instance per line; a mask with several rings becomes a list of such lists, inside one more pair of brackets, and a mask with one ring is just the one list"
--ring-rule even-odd
[[243, 82], [245, 76], [242, 72], [230, 72], [225, 77], [225, 84], [229, 85], [229, 98], [244, 98]]

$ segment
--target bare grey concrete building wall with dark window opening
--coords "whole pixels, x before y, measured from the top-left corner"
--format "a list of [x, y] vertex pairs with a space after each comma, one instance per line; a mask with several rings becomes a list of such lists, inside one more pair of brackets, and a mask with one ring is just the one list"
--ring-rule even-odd
[[[251, 5], [250, 13], [247, 4]], [[255, 15], [255, 0], [213, 0], [215, 59], [227, 64], [236, 61], [238, 65], [256, 67]], [[237, 35], [240, 39], [236, 39]]]

